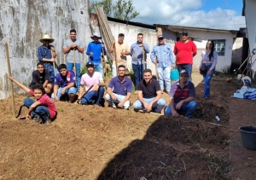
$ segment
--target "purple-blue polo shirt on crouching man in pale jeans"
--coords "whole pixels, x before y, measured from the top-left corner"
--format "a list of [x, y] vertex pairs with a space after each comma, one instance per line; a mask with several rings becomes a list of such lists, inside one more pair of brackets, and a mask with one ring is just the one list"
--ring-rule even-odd
[[111, 79], [108, 88], [113, 88], [113, 93], [115, 94], [126, 96], [127, 92], [132, 90], [132, 82], [130, 78], [125, 77], [125, 80], [121, 83], [119, 77], [116, 76]]

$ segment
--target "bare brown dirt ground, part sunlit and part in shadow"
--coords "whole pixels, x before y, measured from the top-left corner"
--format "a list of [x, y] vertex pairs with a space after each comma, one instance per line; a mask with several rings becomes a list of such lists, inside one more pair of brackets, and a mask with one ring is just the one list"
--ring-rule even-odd
[[[193, 119], [56, 102], [57, 119], [39, 125], [13, 119], [10, 98], [2, 100], [0, 179], [236, 179], [229, 157], [236, 84], [226, 78], [213, 77], [211, 98], [204, 100], [201, 75], [194, 74]], [[24, 97], [15, 96], [16, 113]]]

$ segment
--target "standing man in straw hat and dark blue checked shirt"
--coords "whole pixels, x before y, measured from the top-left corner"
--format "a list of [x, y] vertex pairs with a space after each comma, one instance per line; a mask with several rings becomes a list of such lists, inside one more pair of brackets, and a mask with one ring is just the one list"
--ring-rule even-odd
[[43, 38], [39, 41], [43, 43], [43, 45], [38, 47], [38, 60], [44, 63], [44, 69], [49, 73], [49, 83], [54, 83], [55, 69], [53, 67], [53, 63], [55, 63], [57, 55], [55, 47], [50, 44], [53, 43], [55, 39], [50, 38], [49, 34], [44, 34]]

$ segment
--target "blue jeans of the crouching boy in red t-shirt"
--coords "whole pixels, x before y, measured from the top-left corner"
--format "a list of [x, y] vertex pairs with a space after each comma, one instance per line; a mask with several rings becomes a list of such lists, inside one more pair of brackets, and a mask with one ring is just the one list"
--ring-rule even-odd
[[[24, 105], [29, 108], [31, 107], [31, 105], [34, 103], [35, 101], [33, 101], [31, 98], [26, 97], [23, 101]], [[37, 106], [34, 108], [34, 110], [32, 111], [32, 118], [37, 118], [40, 117], [41, 119], [43, 119], [44, 121], [46, 121], [47, 119], [49, 119], [49, 109], [47, 107], [44, 106]]]

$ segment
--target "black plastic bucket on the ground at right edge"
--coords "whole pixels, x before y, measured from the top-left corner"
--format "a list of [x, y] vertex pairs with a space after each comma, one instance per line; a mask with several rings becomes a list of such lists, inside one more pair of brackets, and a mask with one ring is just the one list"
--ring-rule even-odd
[[251, 150], [256, 150], [256, 127], [254, 126], [241, 126], [241, 142], [244, 147]]

